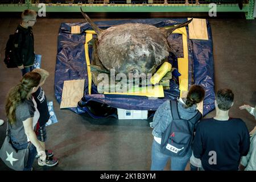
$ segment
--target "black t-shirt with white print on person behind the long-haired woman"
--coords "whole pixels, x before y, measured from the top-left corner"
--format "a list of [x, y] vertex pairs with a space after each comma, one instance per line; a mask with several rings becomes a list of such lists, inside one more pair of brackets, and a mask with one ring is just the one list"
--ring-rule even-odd
[[40, 113], [39, 125], [44, 126], [48, 122], [50, 115], [46, 95], [44, 94], [44, 90], [41, 88], [41, 86], [38, 88], [38, 90], [36, 90], [35, 93], [33, 93], [33, 97], [38, 105], [37, 108]]

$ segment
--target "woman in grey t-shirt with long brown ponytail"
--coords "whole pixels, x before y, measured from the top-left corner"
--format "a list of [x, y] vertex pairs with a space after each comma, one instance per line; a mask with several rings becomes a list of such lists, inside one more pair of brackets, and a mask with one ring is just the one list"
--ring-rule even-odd
[[5, 110], [14, 148], [21, 150], [27, 148], [28, 144], [31, 143], [24, 171], [32, 170], [36, 153], [38, 153], [40, 159], [46, 159], [46, 153], [34, 132], [34, 127], [40, 115], [38, 109], [36, 109], [36, 102], [32, 93], [39, 88], [40, 79], [39, 73], [26, 73], [19, 84], [10, 90], [6, 100]]

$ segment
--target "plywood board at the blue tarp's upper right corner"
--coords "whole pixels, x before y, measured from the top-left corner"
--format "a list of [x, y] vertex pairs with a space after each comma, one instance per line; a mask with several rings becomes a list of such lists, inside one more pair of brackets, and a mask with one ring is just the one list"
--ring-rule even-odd
[[193, 18], [192, 22], [188, 24], [188, 31], [189, 39], [208, 40], [206, 19]]

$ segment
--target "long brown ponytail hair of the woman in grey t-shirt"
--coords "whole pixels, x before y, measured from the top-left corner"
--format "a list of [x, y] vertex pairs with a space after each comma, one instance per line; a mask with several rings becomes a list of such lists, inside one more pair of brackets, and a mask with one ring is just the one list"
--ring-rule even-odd
[[19, 84], [12, 88], [6, 98], [5, 113], [10, 124], [16, 122], [16, 106], [27, 99], [31, 90], [40, 84], [41, 76], [39, 73], [26, 73]]

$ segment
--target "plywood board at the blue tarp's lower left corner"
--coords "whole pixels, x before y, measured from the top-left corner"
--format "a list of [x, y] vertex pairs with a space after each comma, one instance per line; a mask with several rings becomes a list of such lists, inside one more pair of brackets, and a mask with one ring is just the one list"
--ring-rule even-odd
[[77, 106], [77, 102], [84, 96], [84, 81], [64, 81], [60, 109]]

